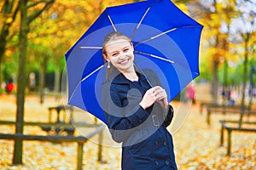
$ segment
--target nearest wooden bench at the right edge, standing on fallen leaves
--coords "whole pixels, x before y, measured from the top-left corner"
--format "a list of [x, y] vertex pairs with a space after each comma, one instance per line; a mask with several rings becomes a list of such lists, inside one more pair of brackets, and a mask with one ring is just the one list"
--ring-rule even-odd
[[[238, 121], [224, 121], [224, 120], [221, 120], [220, 123], [221, 123], [221, 132], [220, 132], [220, 145], [221, 146], [223, 146], [223, 144], [224, 144], [224, 130], [226, 130], [227, 133], [228, 133], [228, 137], [227, 137], [227, 156], [231, 155], [231, 133], [233, 131], [256, 133], [256, 126], [254, 128], [237, 126], [240, 123]], [[234, 126], [234, 125], [231, 126], [230, 124], [236, 124], [236, 126]], [[256, 125], [256, 122], [242, 122], [242, 124]]]

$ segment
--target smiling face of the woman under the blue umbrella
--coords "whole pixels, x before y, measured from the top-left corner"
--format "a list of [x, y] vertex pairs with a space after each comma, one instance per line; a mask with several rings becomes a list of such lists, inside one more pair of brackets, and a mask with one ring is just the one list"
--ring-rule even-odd
[[104, 58], [111, 62], [120, 72], [131, 71], [133, 69], [133, 46], [125, 39], [111, 40], [105, 46], [106, 54]]

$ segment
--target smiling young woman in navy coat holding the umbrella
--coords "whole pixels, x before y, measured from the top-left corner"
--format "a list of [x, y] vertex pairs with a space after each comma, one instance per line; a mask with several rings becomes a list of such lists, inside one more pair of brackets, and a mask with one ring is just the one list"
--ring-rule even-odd
[[108, 34], [102, 46], [108, 61], [102, 108], [113, 140], [122, 143], [122, 169], [177, 169], [166, 130], [172, 106], [156, 74], [137, 69], [133, 50], [131, 39], [118, 31]]

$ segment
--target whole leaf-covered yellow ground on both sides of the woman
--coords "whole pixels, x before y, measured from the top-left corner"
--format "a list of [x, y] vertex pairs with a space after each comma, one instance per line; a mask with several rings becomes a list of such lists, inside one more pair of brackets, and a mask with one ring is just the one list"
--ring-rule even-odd
[[[15, 121], [15, 97], [0, 96], [0, 120]], [[60, 99], [47, 98], [40, 105], [38, 98], [26, 98], [25, 120], [29, 122], [47, 122], [48, 107], [60, 105]], [[176, 107], [177, 103], [173, 106]], [[186, 105], [186, 104], [183, 104]], [[172, 134], [175, 145], [177, 166], [179, 169], [212, 170], [212, 169], [246, 169], [256, 167], [256, 135], [255, 133], [232, 133], [231, 156], [226, 156], [226, 133], [224, 146], [219, 146], [221, 119], [236, 119], [235, 116], [212, 114], [212, 125], [206, 123], [206, 113], [199, 112], [199, 105], [192, 105], [189, 116], [177, 132]], [[253, 118], [251, 118], [253, 120]], [[251, 120], [251, 121], [252, 121]], [[255, 121], [255, 119], [254, 119]], [[170, 127], [171, 128], [171, 127]], [[0, 125], [1, 133], [15, 133], [12, 125]], [[85, 132], [84, 132], [85, 131]], [[83, 130], [89, 133], [90, 130]], [[121, 150], [104, 131], [102, 161], [97, 161], [97, 138], [84, 144], [83, 168], [92, 170], [120, 169]], [[47, 135], [40, 127], [25, 127], [24, 133]], [[76, 133], [79, 135], [79, 132]], [[81, 134], [81, 133], [80, 133]], [[0, 169], [25, 170], [73, 170], [77, 167], [76, 143], [50, 143], [24, 141], [23, 165], [12, 165], [14, 141], [0, 139]]]

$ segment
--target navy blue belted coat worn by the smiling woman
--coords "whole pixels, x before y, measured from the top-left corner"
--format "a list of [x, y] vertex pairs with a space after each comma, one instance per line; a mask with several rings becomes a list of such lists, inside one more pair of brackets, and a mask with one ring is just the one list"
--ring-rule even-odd
[[[160, 85], [153, 71], [143, 73], [154, 86]], [[177, 169], [172, 135], [166, 130], [173, 117], [155, 102], [144, 110], [140, 105], [150, 88], [143, 74], [131, 82], [116, 69], [102, 84], [102, 108], [114, 141], [122, 142], [123, 170]]]

